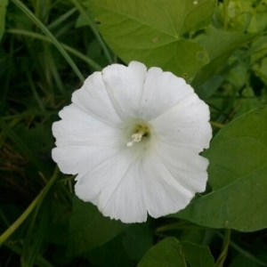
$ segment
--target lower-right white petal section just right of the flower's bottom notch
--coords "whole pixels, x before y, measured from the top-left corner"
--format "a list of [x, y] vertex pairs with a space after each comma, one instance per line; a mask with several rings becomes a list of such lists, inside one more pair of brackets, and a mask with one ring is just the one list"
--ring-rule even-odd
[[156, 154], [143, 158], [142, 171], [143, 196], [152, 217], [178, 212], [193, 198], [194, 193], [174, 179]]

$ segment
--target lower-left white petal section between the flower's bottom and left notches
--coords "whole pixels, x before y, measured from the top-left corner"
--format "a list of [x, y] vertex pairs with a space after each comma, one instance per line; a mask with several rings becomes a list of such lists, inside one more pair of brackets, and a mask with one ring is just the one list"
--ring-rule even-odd
[[126, 148], [88, 173], [78, 175], [77, 197], [93, 202], [111, 219], [123, 223], [145, 222], [147, 211], [142, 198], [142, 176], [134, 159], [133, 150]]

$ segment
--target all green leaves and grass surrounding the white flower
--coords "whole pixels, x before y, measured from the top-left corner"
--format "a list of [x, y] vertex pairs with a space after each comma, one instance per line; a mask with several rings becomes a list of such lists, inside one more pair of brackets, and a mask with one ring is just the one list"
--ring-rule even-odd
[[[1, 266], [267, 266], [266, 30], [266, 0], [0, 0]], [[214, 139], [204, 194], [124, 224], [75, 197], [51, 127], [85, 77], [129, 61], [185, 78]]]

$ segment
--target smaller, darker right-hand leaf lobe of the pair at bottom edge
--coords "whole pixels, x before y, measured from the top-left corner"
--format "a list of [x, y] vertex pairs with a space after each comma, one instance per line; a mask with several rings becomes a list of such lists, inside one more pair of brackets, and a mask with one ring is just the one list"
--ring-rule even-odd
[[214, 257], [206, 246], [181, 242], [183, 255], [191, 267], [214, 267]]

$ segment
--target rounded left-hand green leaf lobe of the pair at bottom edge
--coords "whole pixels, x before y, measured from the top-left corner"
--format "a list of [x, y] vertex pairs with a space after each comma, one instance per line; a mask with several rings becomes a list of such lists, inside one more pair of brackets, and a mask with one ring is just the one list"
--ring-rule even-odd
[[187, 267], [182, 246], [177, 239], [167, 238], [160, 241], [156, 246], [142, 257], [137, 267]]

